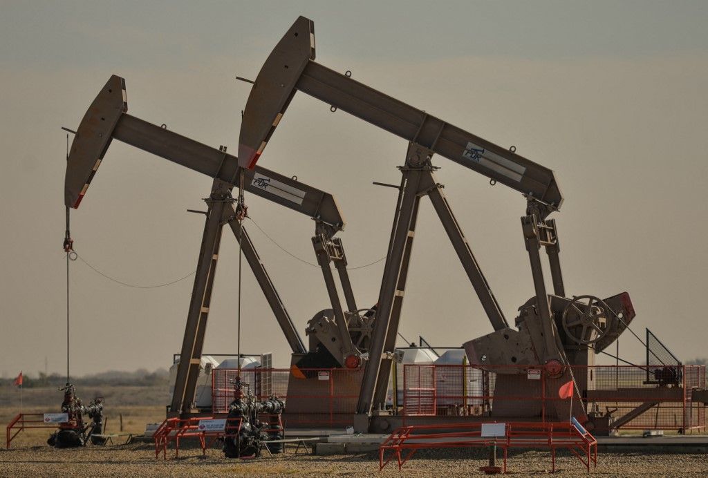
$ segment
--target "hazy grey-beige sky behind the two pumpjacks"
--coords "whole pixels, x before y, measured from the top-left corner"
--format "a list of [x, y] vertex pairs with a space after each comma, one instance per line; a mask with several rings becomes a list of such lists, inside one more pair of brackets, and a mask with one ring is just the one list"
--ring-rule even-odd
[[[64, 371], [64, 153], [111, 74], [129, 112], [236, 151], [249, 85], [298, 15], [315, 22], [317, 61], [552, 168], [569, 294], [629, 291], [633, 330], [679, 358], [708, 356], [708, 3], [703, 1], [7, 1], [0, 0], [0, 372]], [[259, 164], [335, 195], [350, 265], [385, 254], [406, 143], [297, 93]], [[130, 284], [193, 271], [209, 177], [115, 141], [81, 208], [76, 251]], [[533, 295], [525, 201], [435, 157], [438, 179], [508, 320]], [[247, 197], [282, 247], [315, 262], [307, 217]], [[304, 337], [327, 308], [321, 272], [248, 223]], [[230, 234], [230, 233], [228, 233]], [[238, 247], [224, 236], [206, 353], [236, 351]], [[351, 272], [360, 307], [377, 301], [383, 262]], [[190, 279], [120, 286], [72, 263], [72, 372], [169, 366], [181, 348]], [[282, 337], [244, 274], [242, 351]], [[432, 208], [421, 208], [401, 333], [459, 346], [491, 332]], [[620, 354], [643, 361], [625, 334]]]

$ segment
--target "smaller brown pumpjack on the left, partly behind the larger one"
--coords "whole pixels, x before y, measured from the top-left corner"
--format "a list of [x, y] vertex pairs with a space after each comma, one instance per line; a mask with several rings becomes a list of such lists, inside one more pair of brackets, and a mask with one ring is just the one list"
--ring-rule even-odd
[[[225, 225], [232, 229], [236, 240], [240, 241], [244, 257], [292, 349], [292, 366], [360, 368], [362, 356], [370, 342], [375, 307], [358, 309], [347, 272], [344, 247], [341, 239], [334, 237], [343, 230], [345, 223], [331, 194], [306, 185], [296, 177], [287, 177], [272, 170], [261, 167], [253, 170], [241, 168], [238, 158], [227, 153], [225, 147], [217, 150], [171, 132], [164, 126], [127, 114], [125, 79], [116, 75], [105, 83], [74, 133], [64, 187], [64, 203], [67, 208], [76, 209], [79, 206], [113, 139], [213, 178], [212, 190], [205, 199], [207, 211], [202, 245], [169, 416], [188, 416], [200, 412], [193, 402], [222, 228]], [[233, 188], [241, 182], [249, 194], [268, 199], [314, 220], [312, 245], [324, 276], [331, 308], [321, 310], [309, 320], [306, 329], [308, 347], [297, 332], [249, 233], [242, 226], [246, 209], [232, 196]], [[331, 264], [337, 271], [346, 301], [344, 305], [339, 297]], [[294, 380], [290, 389], [307, 388], [308, 383], [308, 380]], [[300, 406], [307, 407], [307, 404], [298, 405], [297, 400], [288, 402], [291, 410], [295, 411]]]

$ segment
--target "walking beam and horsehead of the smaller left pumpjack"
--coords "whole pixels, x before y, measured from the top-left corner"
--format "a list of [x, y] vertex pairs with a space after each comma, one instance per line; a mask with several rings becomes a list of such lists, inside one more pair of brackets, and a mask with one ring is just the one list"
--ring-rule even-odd
[[93, 100], [74, 136], [64, 180], [67, 206], [79, 206], [114, 138], [230, 185], [237, 186], [243, 173], [251, 194], [310, 216], [331, 234], [344, 228], [341, 211], [328, 192], [265, 168], [239, 168], [236, 156], [128, 115], [125, 80], [115, 75]]

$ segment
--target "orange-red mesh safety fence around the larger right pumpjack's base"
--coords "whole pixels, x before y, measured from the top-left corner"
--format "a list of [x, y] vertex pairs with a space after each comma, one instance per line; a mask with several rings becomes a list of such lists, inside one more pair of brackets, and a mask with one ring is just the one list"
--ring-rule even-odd
[[[543, 366], [404, 365], [403, 416], [494, 416], [498, 407], [523, 406], [530, 416], [552, 421], [559, 398]], [[675, 370], [674, 370], [675, 369]], [[624, 429], [706, 429], [705, 406], [692, 401], [704, 388], [705, 366], [679, 366], [661, 380], [647, 380], [641, 366], [573, 366], [573, 378], [588, 413], [626, 417]], [[514, 387], [498, 387], [497, 376], [516, 375]], [[576, 397], [577, 400], [577, 397]], [[644, 412], [641, 410], [644, 409]], [[641, 412], [641, 413], [639, 413]], [[636, 416], [634, 416], [636, 414]]]

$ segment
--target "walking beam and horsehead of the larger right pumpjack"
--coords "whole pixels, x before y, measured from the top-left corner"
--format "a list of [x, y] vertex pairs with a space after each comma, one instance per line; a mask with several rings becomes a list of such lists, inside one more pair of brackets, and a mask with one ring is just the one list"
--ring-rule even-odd
[[296, 90], [364, 119], [559, 209], [553, 171], [314, 62], [314, 24], [299, 17], [251, 88], [241, 122], [239, 164], [253, 168]]

